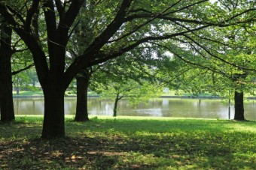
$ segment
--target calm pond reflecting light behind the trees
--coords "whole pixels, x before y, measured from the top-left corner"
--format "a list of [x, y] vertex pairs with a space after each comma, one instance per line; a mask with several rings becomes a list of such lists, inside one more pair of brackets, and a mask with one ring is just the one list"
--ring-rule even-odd
[[[66, 97], [65, 114], [74, 115], [76, 98]], [[98, 97], [88, 98], [89, 115], [113, 115], [114, 102]], [[43, 115], [43, 98], [14, 99], [14, 112], [17, 115]], [[181, 118], [228, 118], [227, 100], [217, 99], [184, 99], [184, 98], [157, 98], [140, 103], [138, 106], [129, 106], [127, 100], [120, 100], [117, 106], [118, 115], [158, 116]], [[234, 106], [231, 104], [233, 119]], [[245, 119], [256, 121], [256, 101], [245, 100]]]

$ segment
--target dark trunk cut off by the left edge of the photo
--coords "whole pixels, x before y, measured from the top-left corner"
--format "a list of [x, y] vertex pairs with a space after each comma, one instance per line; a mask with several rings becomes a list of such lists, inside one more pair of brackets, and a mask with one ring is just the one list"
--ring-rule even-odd
[[0, 38], [0, 109], [1, 121], [14, 121], [11, 81], [11, 28], [2, 27]]

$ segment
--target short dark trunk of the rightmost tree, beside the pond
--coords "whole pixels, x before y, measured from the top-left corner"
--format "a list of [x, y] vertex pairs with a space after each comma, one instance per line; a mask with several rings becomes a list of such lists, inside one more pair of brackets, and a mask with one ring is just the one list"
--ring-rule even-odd
[[235, 117], [234, 120], [244, 121], [243, 92], [235, 91]]

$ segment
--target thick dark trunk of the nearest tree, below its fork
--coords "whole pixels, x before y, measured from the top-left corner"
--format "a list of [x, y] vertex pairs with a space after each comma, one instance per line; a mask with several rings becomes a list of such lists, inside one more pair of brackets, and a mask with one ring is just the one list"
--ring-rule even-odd
[[44, 126], [43, 139], [65, 137], [64, 94], [58, 85], [44, 89]]

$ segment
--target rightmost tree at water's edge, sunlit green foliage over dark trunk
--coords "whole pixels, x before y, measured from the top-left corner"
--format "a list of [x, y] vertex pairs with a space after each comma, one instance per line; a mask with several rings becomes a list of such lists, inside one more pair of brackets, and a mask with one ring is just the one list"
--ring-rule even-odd
[[[178, 43], [172, 48], [169, 47], [172, 42], [166, 42], [165, 45], [160, 44], [160, 47], [166, 48], [172, 55], [188, 64], [192, 64], [195, 69], [200, 69], [202, 72], [198, 73], [197, 70], [192, 69], [192, 74], [188, 74], [193, 79], [197, 77], [199, 79], [196, 79], [196, 81], [190, 79], [189, 83], [182, 82], [183, 88], [191, 87], [192, 92], [194, 92], [193, 88], [196, 88], [196, 92], [198, 89], [198, 92], [202, 90], [213, 91], [222, 95], [227, 94], [227, 91], [234, 91], [234, 119], [239, 121], [245, 120], [243, 92], [254, 86], [250, 78], [247, 79], [248, 75], [253, 76], [255, 74], [254, 66], [256, 63], [254, 55], [252, 55], [254, 52], [251, 52], [254, 49], [251, 48], [252, 46], [248, 46], [248, 44], [251, 44], [249, 43], [251, 38], [245, 31], [250, 28], [251, 26], [236, 25], [235, 28], [222, 28], [221, 31], [217, 32], [201, 31], [198, 32], [200, 34], [194, 33], [193, 36], [195, 37], [188, 37], [190, 40], [183, 40], [182, 45], [186, 46], [185, 50], [180, 49], [178, 46], [181, 44]], [[214, 36], [212, 33], [214, 33]], [[197, 39], [197, 37], [200, 38]], [[216, 76], [218, 76], [217, 79]], [[220, 78], [220, 76], [223, 77]], [[222, 81], [219, 81], [219, 79], [222, 79]]]

